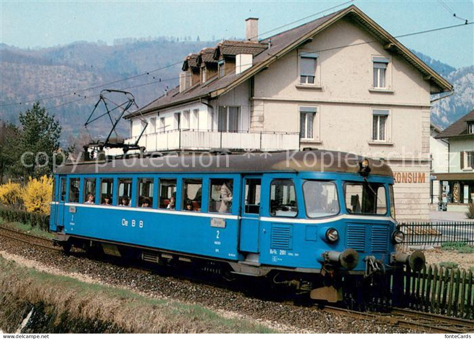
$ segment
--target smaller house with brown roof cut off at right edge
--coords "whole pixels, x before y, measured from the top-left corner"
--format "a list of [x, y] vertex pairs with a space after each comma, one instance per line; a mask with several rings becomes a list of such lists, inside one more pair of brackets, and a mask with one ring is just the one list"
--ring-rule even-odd
[[436, 171], [440, 196], [448, 211], [465, 211], [474, 202], [474, 110], [451, 124], [436, 137], [449, 143], [447, 171]]

